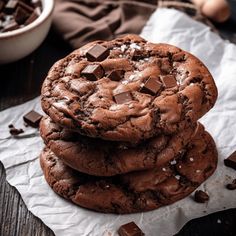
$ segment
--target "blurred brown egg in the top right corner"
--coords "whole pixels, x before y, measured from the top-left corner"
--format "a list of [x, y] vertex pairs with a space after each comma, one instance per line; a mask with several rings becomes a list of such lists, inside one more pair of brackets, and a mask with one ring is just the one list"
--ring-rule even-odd
[[215, 22], [224, 22], [230, 17], [230, 8], [226, 0], [205, 0], [201, 12]]

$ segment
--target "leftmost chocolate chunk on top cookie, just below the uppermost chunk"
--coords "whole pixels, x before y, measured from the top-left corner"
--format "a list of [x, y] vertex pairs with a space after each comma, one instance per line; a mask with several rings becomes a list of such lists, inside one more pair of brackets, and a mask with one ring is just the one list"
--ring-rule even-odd
[[101, 79], [104, 75], [104, 70], [101, 65], [87, 65], [82, 71], [81, 75], [87, 79], [95, 81]]

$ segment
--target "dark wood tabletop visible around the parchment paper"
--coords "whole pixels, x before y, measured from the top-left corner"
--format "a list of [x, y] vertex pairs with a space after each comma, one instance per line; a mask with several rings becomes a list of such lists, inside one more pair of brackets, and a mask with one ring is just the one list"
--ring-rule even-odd
[[[217, 25], [225, 38], [236, 43], [236, 24], [229, 21], [223, 25]], [[21, 104], [40, 94], [40, 87], [45, 75], [51, 65], [71, 51], [71, 48], [51, 30], [44, 43], [33, 54], [18, 62], [0, 66], [0, 110], [4, 110], [13, 105]], [[5, 171], [0, 163], [0, 236], [34, 236], [34, 235], [54, 235], [40, 219], [32, 215], [26, 208], [19, 193], [14, 187], [11, 187], [5, 178]], [[197, 223], [194, 221], [178, 234], [180, 235], [231, 235], [231, 234], [195, 234], [194, 227], [204, 229], [211, 224], [214, 217], [220, 217], [233, 222], [231, 224], [235, 229], [236, 209], [217, 213], [218, 215], [209, 216], [200, 219]], [[209, 220], [210, 219], [210, 220]], [[198, 224], [198, 222], [202, 224]], [[219, 226], [219, 224], [218, 224]], [[208, 227], [209, 228], [209, 227]], [[233, 229], [233, 228], [232, 228]], [[221, 231], [218, 231], [221, 232]], [[226, 231], [222, 231], [226, 232]], [[233, 232], [232, 230], [230, 232]], [[236, 230], [234, 231], [236, 235]]]

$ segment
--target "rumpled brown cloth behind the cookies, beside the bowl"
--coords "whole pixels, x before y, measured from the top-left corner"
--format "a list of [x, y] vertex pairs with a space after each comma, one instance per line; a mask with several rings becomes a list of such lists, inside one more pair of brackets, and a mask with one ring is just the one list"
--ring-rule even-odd
[[56, 0], [53, 25], [73, 48], [140, 33], [158, 0]]

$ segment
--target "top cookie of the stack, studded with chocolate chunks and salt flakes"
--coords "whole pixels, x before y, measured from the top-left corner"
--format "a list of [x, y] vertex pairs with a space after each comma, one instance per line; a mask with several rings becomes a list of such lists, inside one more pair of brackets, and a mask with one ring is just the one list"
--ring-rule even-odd
[[184, 129], [216, 98], [214, 80], [196, 57], [136, 35], [75, 50], [54, 64], [42, 87], [43, 110], [55, 122], [129, 142]]

